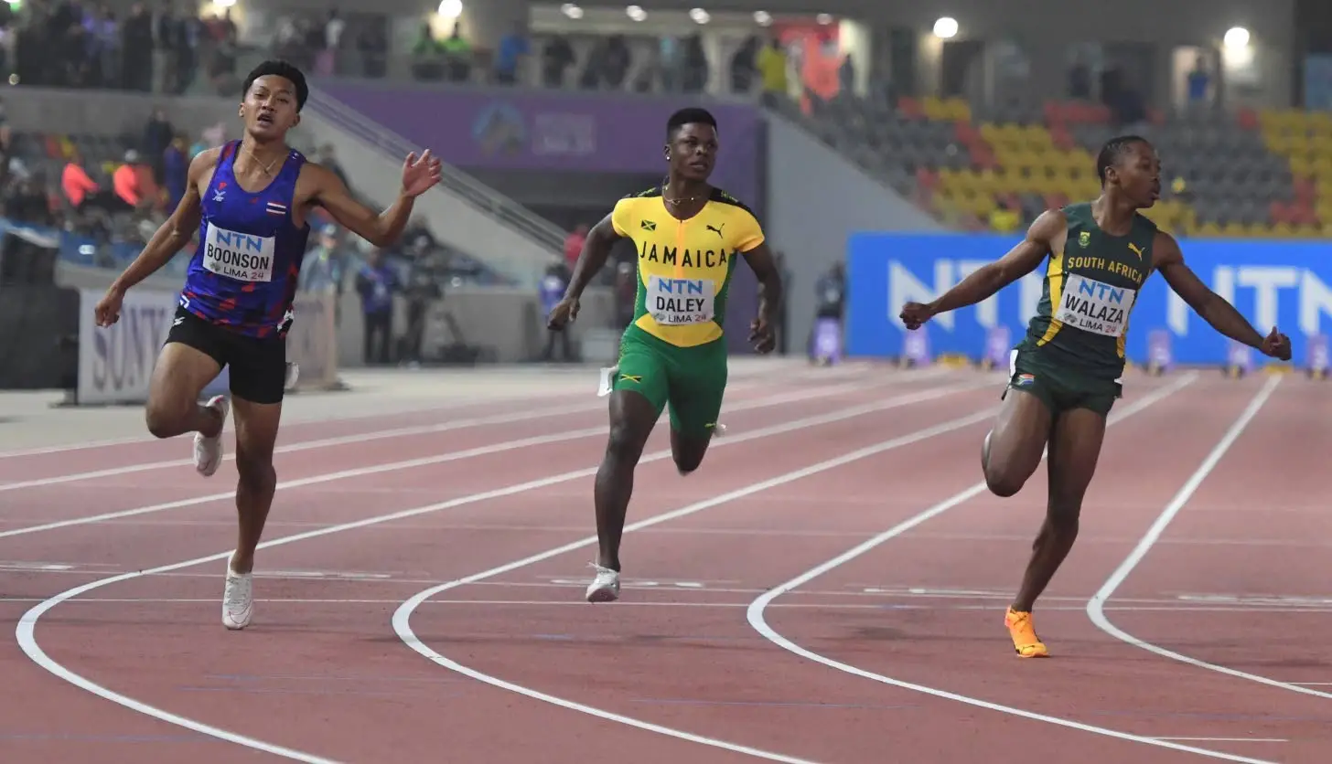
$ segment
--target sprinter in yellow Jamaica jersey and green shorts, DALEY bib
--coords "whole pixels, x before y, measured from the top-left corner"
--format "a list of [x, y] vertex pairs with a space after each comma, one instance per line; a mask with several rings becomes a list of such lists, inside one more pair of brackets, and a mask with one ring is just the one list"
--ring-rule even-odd
[[717, 161], [717, 120], [681, 109], [666, 124], [666, 186], [619, 200], [587, 234], [550, 329], [578, 313], [578, 297], [621, 238], [638, 252], [634, 319], [625, 330], [610, 394], [610, 439], [597, 471], [597, 570], [587, 602], [619, 598], [619, 538], [634, 469], [670, 403], [670, 447], [682, 475], [698, 469], [726, 391], [726, 297], [737, 260], [759, 280], [755, 350], [773, 350], [782, 280], [754, 213], [707, 184]]

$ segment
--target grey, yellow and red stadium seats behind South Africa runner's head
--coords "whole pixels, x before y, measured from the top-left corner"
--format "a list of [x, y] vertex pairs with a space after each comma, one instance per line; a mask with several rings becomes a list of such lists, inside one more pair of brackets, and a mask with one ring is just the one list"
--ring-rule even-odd
[[806, 126], [952, 228], [1020, 230], [1043, 209], [1094, 198], [1096, 152], [1127, 130], [1162, 156], [1162, 200], [1144, 214], [1176, 236], [1321, 237], [1332, 224], [1332, 192], [1319, 192], [1332, 184], [1324, 113], [1152, 112], [1116, 126], [1088, 102], [811, 101]]

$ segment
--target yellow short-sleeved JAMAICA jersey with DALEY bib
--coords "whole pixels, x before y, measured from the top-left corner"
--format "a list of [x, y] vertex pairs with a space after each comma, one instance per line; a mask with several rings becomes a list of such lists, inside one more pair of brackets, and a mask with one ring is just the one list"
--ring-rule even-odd
[[610, 224], [638, 250], [634, 325], [679, 347], [718, 339], [735, 258], [763, 244], [754, 213], [713, 189], [698, 214], [678, 220], [655, 188], [619, 200]]

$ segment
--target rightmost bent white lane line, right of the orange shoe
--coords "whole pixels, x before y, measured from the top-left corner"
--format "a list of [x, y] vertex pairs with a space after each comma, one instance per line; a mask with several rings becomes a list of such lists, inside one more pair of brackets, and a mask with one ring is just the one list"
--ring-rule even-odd
[[1115, 590], [1118, 590], [1120, 584], [1123, 584], [1124, 580], [1128, 578], [1128, 575], [1134, 572], [1134, 568], [1136, 568], [1138, 564], [1143, 562], [1143, 558], [1146, 558], [1147, 552], [1151, 551], [1152, 546], [1156, 543], [1156, 539], [1159, 539], [1162, 534], [1166, 532], [1166, 527], [1169, 526], [1171, 520], [1175, 519], [1175, 515], [1177, 515], [1180, 510], [1184, 508], [1184, 506], [1193, 496], [1193, 494], [1197, 492], [1197, 488], [1201, 487], [1203, 482], [1208, 478], [1208, 475], [1211, 475], [1212, 471], [1216, 470], [1216, 466], [1220, 463], [1221, 458], [1225, 457], [1225, 453], [1231, 450], [1231, 446], [1233, 446], [1235, 442], [1240, 438], [1240, 435], [1244, 434], [1244, 430], [1248, 429], [1253, 418], [1257, 417], [1259, 410], [1263, 409], [1263, 405], [1267, 403], [1268, 398], [1272, 397], [1272, 393], [1276, 391], [1276, 386], [1280, 383], [1281, 383], [1281, 377], [1277, 375], [1277, 377], [1271, 377], [1267, 381], [1267, 383], [1263, 385], [1261, 390], [1259, 390], [1257, 395], [1255, 395], [1253, 399], [1249, 402], [1249, 405], [1244, 409], [1239, 419], [1236, 419], [1235, 423], [1231, 425], [1231, 429], [1227, 430], [1224, 435], [1221, 435], [1221, 439], [1216, 443], [1216, 447], [1212, 449], [1212, 451], [1207, 455], [1207, 458], [1203, 459], [1203, 463], [1199, 465], [1197, 470], [1195, 470], [1193, 474], [1188, 478], [1188, 480], [1184, 482], [1179, 492], [1175, 494], [1175, 498], [1171, 499], [1168, 504], [1166, 504], [1166, 508], [1156, 518], [1156, 522], [1154, 522], [1151, 527], [1147, 528], [1147, 532], [1143, 535], [1142, 540], [1138, 542], [1138, 546], [1134, 547], [1134, 551], [1131, 551], [1128, 556], [1124, 558], [1124, 562], [1120, 563], [1118, 568], [1115, 568], [1115, 572], [1110, 575], [1110, 578], [1100, 587], [1100, 590], [1095, 595], [1092, 595], [1090, 600], [1087, 600], [1087, 618], [1090, 618], [1091, 622], [1096, 624], [1096, 628], [1104, 631], [1106, 634], [1114, 636], [1115, 639], [1132, 644], [1134, 647], [1140, 647], [1148, 652], [1160, 655], [1162, 658], [1168, 658], [1171, 660], [1177, 660], [1180, 663], [1187, 663], [1188, 666], [1205, 668], [1208, 671], [1215, 671], [1217, 673], [1224, 673], [1227, 676], [1247, 679], [1249, 681], [1256, 681], [1259, 684], [1267, 684], [1268, 687], [1276, 687], [1279, 689], [1287, 689], [1289, 692], [1299, 692], [1300, 695], [1313, 695], [1316, 697], [1332, 697], [1332, 692], [1327, 692], [1323, 689], [1312, 689], [1309, 687], [1301, 687], [1299, 684], [1293, 684], [1289, 681], [1280, 681], [1276, 679], [1271, 679], [1268, 676], [1259, 676], [1256, 673], [1249, 673], [1247, 671], [1240, 671], [1237, 668], [1231, 668], [1228, 666], [1217, 666], [1215, 663], [1208, 663], [1205, 660], [1199, 660], [1196, 658], [1191, 658], [1188, 655], [1167, 650], [1164, 647], [1152, 644], [1150, 642], [1146, 642], [1143, 639], [1139, 639], [1128, 634], [1127, 631], [1111, 623], [1108, 618], [1106, 618], [1106, 602], [1115, 595]]

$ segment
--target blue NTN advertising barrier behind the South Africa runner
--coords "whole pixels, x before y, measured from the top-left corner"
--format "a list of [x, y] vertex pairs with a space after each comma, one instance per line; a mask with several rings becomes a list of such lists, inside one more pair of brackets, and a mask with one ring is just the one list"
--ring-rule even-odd
[[[846, 354], [902, 355], [908, 334], [898, 319], [903, 303], [936, 298], [1019, 241], [992, 234], [851, 236], [846, 260]], [[1317, 337], [1332, 333], [1332, 244], [1185, 240], [1180, 248], [1199, 278], [1261, 334], [1277, 326], [1291, 337], [1292, 363], [1307, 366], [1309, 350], [1319, 349]], [[1000, 326], [1016, 343], [1040, 301], [1043, 276], [1044, 265], [984, 302], [934, 317], [918, 331], [928, 333], [935, 355], [980, 359], [990, 331]], [[1231, 341], [1195, 314], [1159, 273], [1147, 280], [1134, 307], [1124, 350], [1131, 362], [1147, 362], [1154, 330], [1167, 333], [1173, 365], [1223, 366], [1229, 358]], [[1159, 343], [1160, 334], [1155, 337]], [[1255, 354], [1255, 361], [1268, 359]]]

